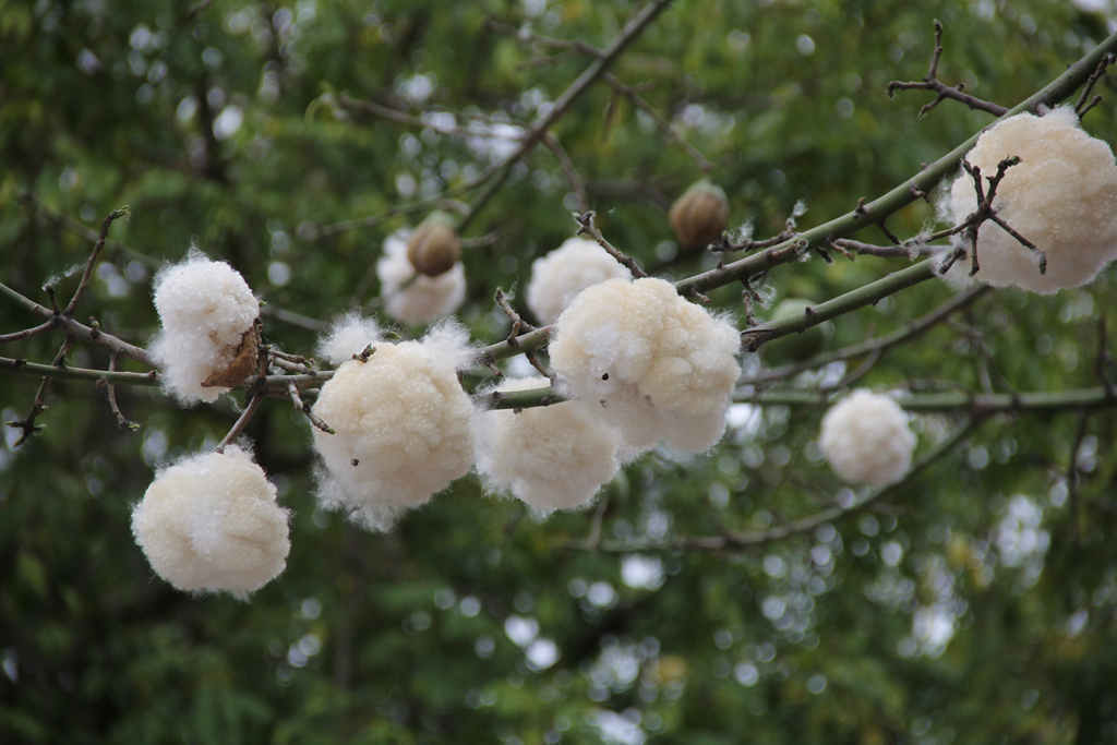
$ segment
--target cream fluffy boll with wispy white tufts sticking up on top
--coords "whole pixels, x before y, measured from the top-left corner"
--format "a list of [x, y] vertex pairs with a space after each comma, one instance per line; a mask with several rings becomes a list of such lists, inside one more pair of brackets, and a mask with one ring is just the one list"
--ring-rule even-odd
[[379, 342], [366, 362], [343, 363], [322, 386], [314, 413], [336, 431], [313, 430], [328, 476], [324, 506], [384, 527], [469, 472], [472, 404], [455, 369], [469, 356], [464, 341], [446, 324], [422, 342]]

